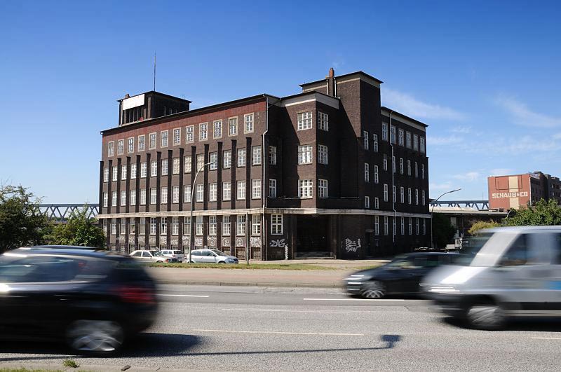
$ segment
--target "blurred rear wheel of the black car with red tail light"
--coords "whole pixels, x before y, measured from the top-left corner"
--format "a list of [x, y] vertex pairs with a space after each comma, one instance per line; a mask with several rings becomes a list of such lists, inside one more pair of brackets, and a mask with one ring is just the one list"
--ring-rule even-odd
[[110, 354], [123, 345], [123, 327], [110, 320], [76, 320], [67, 331], [68, 344], [76, 352]]

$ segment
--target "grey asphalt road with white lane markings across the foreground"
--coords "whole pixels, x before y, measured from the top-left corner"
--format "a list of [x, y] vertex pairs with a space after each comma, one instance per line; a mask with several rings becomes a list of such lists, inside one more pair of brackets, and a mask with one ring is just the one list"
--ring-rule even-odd
[[[119, 371], [558, 371], [560, 322], [474, 331], [427, 301], [359, 300], [339, 289], [167, 285], [161, 319], [114, 358], [74, 357]], [[62, 366], [60, 345], [0, 343], [0, 367]]]

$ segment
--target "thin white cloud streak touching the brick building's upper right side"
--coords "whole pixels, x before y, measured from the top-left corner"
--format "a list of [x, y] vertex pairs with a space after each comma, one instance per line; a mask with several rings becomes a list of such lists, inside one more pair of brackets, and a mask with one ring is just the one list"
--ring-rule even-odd
[[449, 107], [422, 102], [411, 95], [393, 89], [381, 90], [381, 99], [384, 106], [396, 109], [413, 118], [463, 120], [466, 117], [464, 113]]

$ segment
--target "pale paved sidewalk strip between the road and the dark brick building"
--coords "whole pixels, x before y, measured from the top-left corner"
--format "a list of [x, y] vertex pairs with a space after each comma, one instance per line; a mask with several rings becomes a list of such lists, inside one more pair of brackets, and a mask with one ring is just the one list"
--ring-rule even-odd
[[[306, 263], [333, 267], [334, 270], [269, 270], [222, 268], [148, 268], [155, 280], [162, 284], [258, 286], [258, 287], [341, 287], [342, 279], [358, 267], [374, 266], [382, 260], [305, 260], [262, 261], [259, 263]], [[252, 263], [257, 263], [252, 261]], [[239, 263], [244, 265], [245, 263]]]

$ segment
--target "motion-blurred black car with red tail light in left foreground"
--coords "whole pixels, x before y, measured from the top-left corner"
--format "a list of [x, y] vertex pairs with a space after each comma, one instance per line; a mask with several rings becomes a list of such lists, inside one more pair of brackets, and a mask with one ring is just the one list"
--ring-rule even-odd
[[23, 247], [0, 256], [0, 337], [109, 354], [156, 319], [156, 284], [126, 256]]

